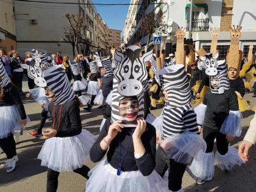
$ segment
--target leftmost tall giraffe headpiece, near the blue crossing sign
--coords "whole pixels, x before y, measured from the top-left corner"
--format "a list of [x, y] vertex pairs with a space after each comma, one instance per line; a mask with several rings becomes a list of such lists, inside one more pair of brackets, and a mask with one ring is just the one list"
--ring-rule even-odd
[[185, 64], [185, 50], [184, 50], [184, 37], [186, 28], [182, 27], [175, 28], [176, 31], [176, 38], [177, 38], [177, 46], [176, 46], [176, 52], [175, 52], [175, 58], [177, 64]]

